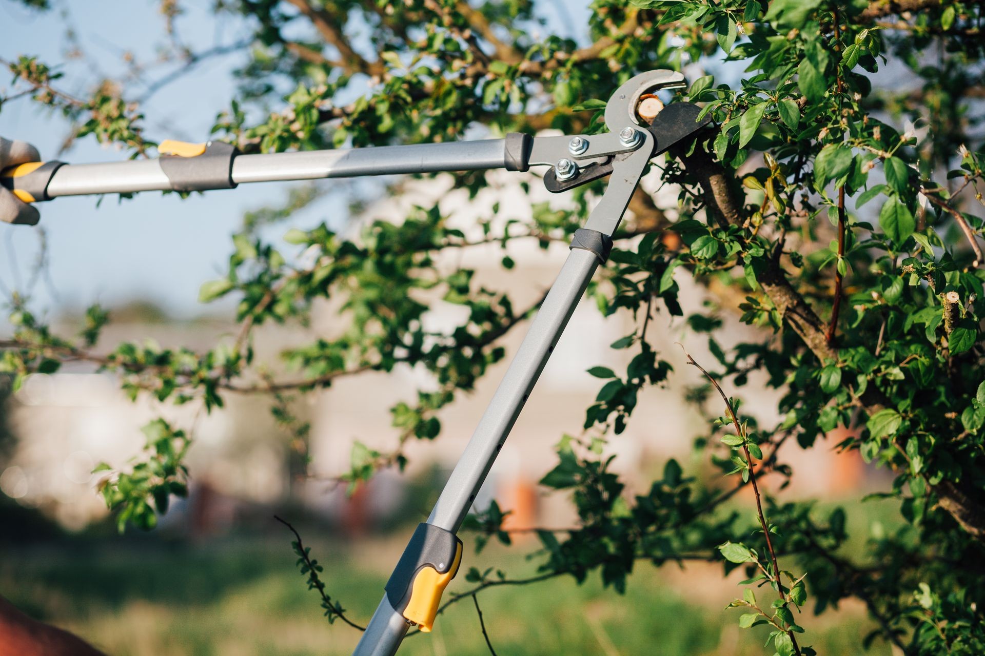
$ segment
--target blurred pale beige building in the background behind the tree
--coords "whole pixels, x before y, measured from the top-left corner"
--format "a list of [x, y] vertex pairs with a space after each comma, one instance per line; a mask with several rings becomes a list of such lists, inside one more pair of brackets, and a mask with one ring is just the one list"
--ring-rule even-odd
[[[452, 216], [455, 227], [467, 235], [481, 236], [475, 234], [478, 219], [491, 216], [495, 203], [499, 204], [497, 219], [505, 221], [529, 216], [532, 203], [551, 202], [559, 207], [566, 202], [563, 196], [544, 191], [532, 176], [527, 180], [534, 190], [529, 196], [520, 189], [516, 174], [494, 172], [490, 180], [492, 186], [475, 199], [465, 190], [451, 190], [450, 176], [410, 181], [398, 196], [366, 209], [363, 219], [403, 216], [412, 206], [437, 204]], [[656, 180], [646, 184], [655, 190]], [[675, 205], [676, 189], [662, 189], [659, 195], [668, 201], [659, 203], [662, 207]], [[516, 308], [525, 307], [544, 293], [567, 255], [563, 244], [544, 251], [534, 240], [511, 242], [508, 254], [516, 265], [507, 270], [501, 267], [503, 254], [495, 244], [452, 251], [443, 254], [442, 266], [475, 268], [475, 284], [508, 291]], [[686, 273], [679, 275], [678, 281], [686, 315], [699, 310], [709, 292], [694, 284]], [[715, 300], [719, 305], [731, 305], [721, 298]], [[706, 458], [691, 449], [693, 438], [705, 430], [705, 420], [685, 398], [688, 388], [701, 380], [675, 345], [686, 344], [689, 352], [710, 368], [713, 358], [706, 337], [689, 332], [680, 318], [673, 320], [661, 303], [655, 304], [655, 309], [648, 337], [659, 357], [673, 363], [675, 372], [666, 387], [647, 388], [640, 394], [628, 428], [609, 445], [617, 454], [616, 468], [638, 485], [635, 492], [645, 490], [648, 477], [659, 472], [668, 457], [691, 466], [707, 464]], [[454, 328], [466, 319], [463, 310], [435, 301], [427, 314], [427, 328]], [[723, 314], [726, 328], [716, 337], [728, 342], [726, 347], [762, 337], [740, 324], [737, 314]], [[264, 327], [256, 333], [257, 361], [273, 363], [282, 348], [315, 335], [331, 335], [343, 322], [331, 305], [325, 304], [317, 311], [311, 328]], [[552, 524], [569, 518], [564, 496], [547, 495], [537, 481], [554, 466], [553, 447], [560, 437], [582, 433], [584, 408], [604, 384], [587, 370], [602, 365], [624, 372], [634, 352], [614, 350], [609, 345], [632, 329], [629, 313], [604, 318], [593, 301], [582, 301], [499, 454], [477, 504], [497, 498], [501, 507], [514, 509], [514, 526]], [[151, 338], [164, 346], [206, 349], [218, 339], [230, 338], [234, 330], [231, 324], [216, 322], [147, 323], [134, 318], [110, 324], [99, 347], [108, 350], [120, 341]], [[454, 465], [525, 331], [526, 325], [511, 330], [503, 341], [507, 358], [492, 368], [473, 393], [463, 395], [440, 414], [442, 433], [438, 440], [409, 445], [410, 476], [423, 474], [435, 465], [445, 471]], [[392, 449], [396, 429], [391, 426], [389, 407], [399, 400], [413, 402], [416, 390], [430, 384], [427, 372], [398, 367], [391, 374], [340, 379], [332, 388], [308, 394], [296, 412], [311, 422], [308, 448], [312, 460], [310, 477], [298, 485], [290, 474], [288, 437], [275, 425], [269, 402], [262, 396], [226, 394], [226, 407], [211, 414], [196, 404], [175, 407], [144, 397], [131, 403], [113, 377], [75, 365], [56, 375], [33, 376], [15, 394], [8, 414], [20, 441], [0, 473], [0, 490], [24, 505], [43, 507], [66, 526], [83, 527], [106, 512], [95, 494], [99, 477], [90, 473], [93, 467], [100, 460], [125, 467], [143, 446], [139, 428], [152, 418], [164, 416], [190, 430], [195, 440], [189, 457], [192, 499], [176, 508], [180, 519], [169, 521], [184, 521], [200, 530], [221, 527], [233, 521], [237, 506], [281, 502], [294, 491], [296, 498], [313, 509], [335, 516], [351, 530], [360, 530], [362, 519], [382, 517], [404, 507], [401, 500], [407, 479], [385, 472], [349, 501], [340, 486], [326, 479], [349, 469], [350, 451], [356, 441], [380, 451]], [[763, 388], [761, 381], [754, 379], [736, 393], [747, 401], [744, 410], [757, 415], [764, 425], [777, 420], [770, 414], [775, 411], [777, 394]], [[714, 399], [708, 409], [719, 411]], [[855, 455], [834, 453], [839, 440], [819, 443], [811, 451], [785, 448], [784, 460], [798, 473], [790, 494], [829, 495], [861, 483], [862, 469]], [[409, 512], [423, 517], [427, 510], [421, 507]]]

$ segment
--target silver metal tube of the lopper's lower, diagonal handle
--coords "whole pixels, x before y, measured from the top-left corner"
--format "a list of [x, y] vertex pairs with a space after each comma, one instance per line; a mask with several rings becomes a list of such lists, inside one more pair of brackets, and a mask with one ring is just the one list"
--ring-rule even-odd
[[[596, 253], [580, 247], [572, 248], [568, 254], [540, 312], [496, 388], [493, 400], [431, 510], [427, 524], [450, 533], [458, 531], [599, 263]], [[389, 595], [384, 595], [353, 653], [355, 656], [391, 656], [396, 653], [408, 628], [404, 616], [394, 610]]]

